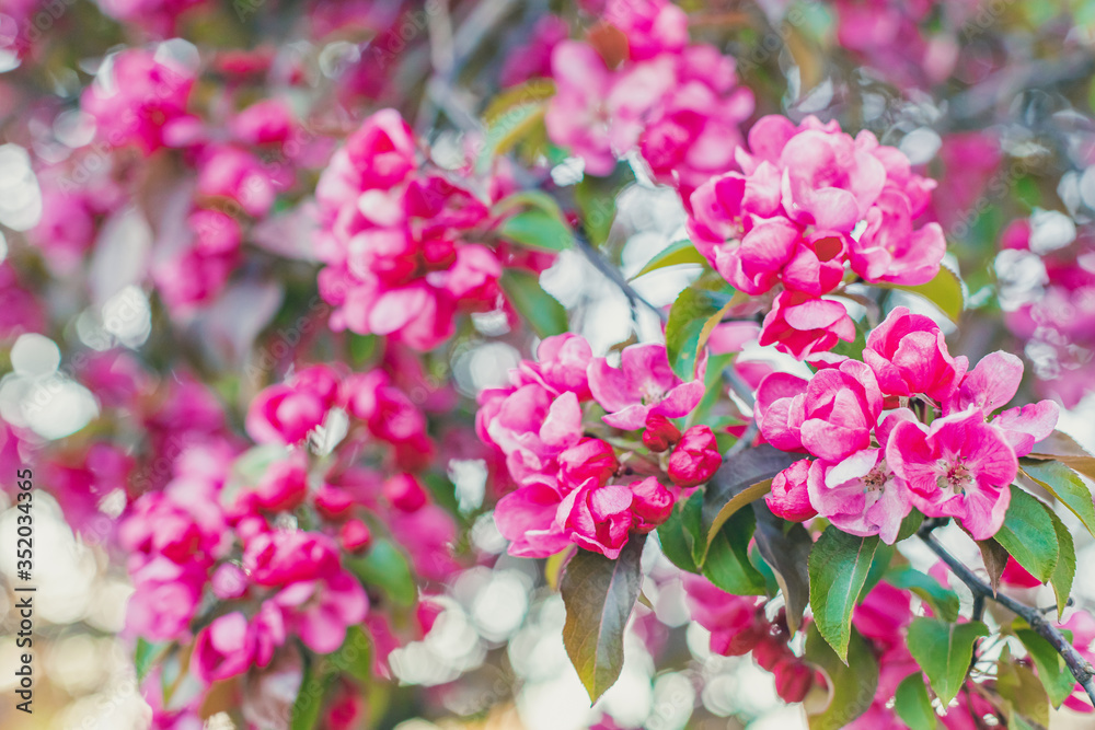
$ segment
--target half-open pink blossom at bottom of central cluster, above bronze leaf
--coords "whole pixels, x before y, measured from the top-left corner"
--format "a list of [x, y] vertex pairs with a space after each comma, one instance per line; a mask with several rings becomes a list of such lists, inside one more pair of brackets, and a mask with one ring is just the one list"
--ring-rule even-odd
[[615, 559], [634, 521], [632, 499], [627, 487], [589, 478], [563, 498], [555, 523], [579, 547]]

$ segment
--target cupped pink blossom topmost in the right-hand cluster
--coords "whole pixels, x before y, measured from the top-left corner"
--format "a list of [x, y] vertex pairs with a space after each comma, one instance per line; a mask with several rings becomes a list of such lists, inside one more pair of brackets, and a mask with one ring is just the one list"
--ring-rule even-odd
[[871, 366], [886, 395], [923, 393], [945, 403], [966, 374], [968, 360], [952, 358], [938, 325], [922, 314], [895, 308], [867, 335], [863, 361]]

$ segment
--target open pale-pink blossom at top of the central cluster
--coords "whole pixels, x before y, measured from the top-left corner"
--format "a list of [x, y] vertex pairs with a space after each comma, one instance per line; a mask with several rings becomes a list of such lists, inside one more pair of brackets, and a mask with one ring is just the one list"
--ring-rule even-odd
[[604, 358], [589, 364], [589, 390], [608, 412], [603, 420], [613, 428], [643, 428], [650, 415], [687, 416], [703, 397], [703, 380], [688, 383], [669, 367], [664, 345], [631, 345], [620, 354], [620, 367]]

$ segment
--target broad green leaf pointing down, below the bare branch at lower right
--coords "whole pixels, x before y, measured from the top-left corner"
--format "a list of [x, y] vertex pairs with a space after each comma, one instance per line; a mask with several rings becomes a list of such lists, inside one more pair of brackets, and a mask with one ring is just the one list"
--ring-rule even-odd
[[918, 616], [909, 626], [909, 652], [927, 674], [932, 690], [946, 707], [955, 698], [969, 672], [973, 642], [988, 636], [989, 628], [979, 621], [953, 624], [940, 618]]

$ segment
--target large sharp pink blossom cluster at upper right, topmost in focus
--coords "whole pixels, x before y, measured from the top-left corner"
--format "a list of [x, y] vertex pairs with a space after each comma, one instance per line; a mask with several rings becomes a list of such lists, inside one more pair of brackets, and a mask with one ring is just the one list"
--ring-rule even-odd
[[853, 139], [835, 121], [807, 117], [796, 127], [766, 116], [736, 163], [738, 171], [692, 194], [689, 230], [735, 288], [777, 292], [762, 345], [804, 358], [854, 339], [843, 304], [823, 299], [843, 282], [845, 265], [867, 282], [920, 285], [938, 273], [942, 229], [913, 224], [935, 183], [869, 131]]

